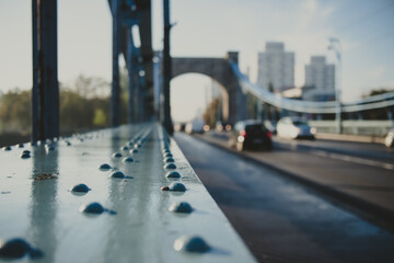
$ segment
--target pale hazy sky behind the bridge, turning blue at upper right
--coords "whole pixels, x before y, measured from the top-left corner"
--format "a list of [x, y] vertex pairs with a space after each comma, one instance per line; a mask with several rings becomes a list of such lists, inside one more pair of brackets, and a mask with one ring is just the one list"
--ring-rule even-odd
[[[162, 49], [162, 1], [152, 0], [153, 47]], [[394, 89], [393, 0], [171, 0], [172, 56], [223, 57], [240, 53], [253, 77], [266, 42], [283, 42], [296, 54], [296, 85], [313, 55], [327, 56], [328, 38], [341, 43], [343, 100], [378, 88]], [[31, 1], [0, 0], [0, 90], [32, 87]], [[111, 13], [106, 0], [58, 0], [59, 81], [81, 73], [111, 80]], [[211, 80], [184, 75], [171, 83], [175, 121], [206, 104]]]

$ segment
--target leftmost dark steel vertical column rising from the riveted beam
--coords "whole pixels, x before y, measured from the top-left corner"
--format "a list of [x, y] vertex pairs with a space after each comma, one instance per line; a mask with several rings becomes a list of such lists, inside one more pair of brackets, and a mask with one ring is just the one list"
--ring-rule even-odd
[[59, 136], [57, 1], [33, 0], [32, 141]]

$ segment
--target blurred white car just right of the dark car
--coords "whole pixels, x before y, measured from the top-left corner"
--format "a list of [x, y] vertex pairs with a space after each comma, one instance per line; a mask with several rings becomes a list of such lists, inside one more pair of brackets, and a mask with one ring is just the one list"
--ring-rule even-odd
[[277, 124], [277, 136], [290, 139], [314, 139], [316, 129], [300, 117], [282, 117]]

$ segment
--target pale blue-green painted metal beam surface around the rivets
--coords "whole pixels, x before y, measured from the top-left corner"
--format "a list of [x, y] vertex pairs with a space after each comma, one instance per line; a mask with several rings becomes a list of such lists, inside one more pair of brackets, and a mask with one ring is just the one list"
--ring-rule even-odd
[[[31, 158], [22, 159], [23, 150], [30, 150]], [[115, 152], [123, 157], [113, 157]], [[165, 176], [163, 159], [169, 152], [178, 180]], [[126, 157], [135, 161], [123, 162]], [[0, 151], [0, 238], [23, 238], [40, 250], [44, 256], [35, 262], [255, 262], [159, 125], [12, 147]], [[114, 170], [100, 170], [103, 163]], [[126, 178], [111, 178], [114, 171]], [[172, 182], [183, 183], [186, 192], [160, 190]], [[88, 193], [70, 191], [81, 183]], [[101, 204], [102, 214], [80, 211], [93, 202]], [[170, 211], [178, 202], [187, 202], [193, 211]], [[211, 249], [201, 254], [176, 251], [175, 240], [184, 236], [201, 237]]]

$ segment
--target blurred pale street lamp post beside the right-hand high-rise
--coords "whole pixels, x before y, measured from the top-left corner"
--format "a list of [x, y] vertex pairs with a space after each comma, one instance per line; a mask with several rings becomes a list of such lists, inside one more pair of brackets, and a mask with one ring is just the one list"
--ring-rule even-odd
[[337, 102], [336, 106], [336, 122], [337, 122], [337, 132], [338, 134], [343, 133], [343, 126], [341, 126], [341, 90], [340, 90], [340, 72], [341, 72], [341, 45], [338, 38], [331, 37], [329, 38], [329, 50], [333, 50], [335, 53], [335, 57], [337, 60], [336, 64], [336, 89], [335, 89], [335, 99]]

